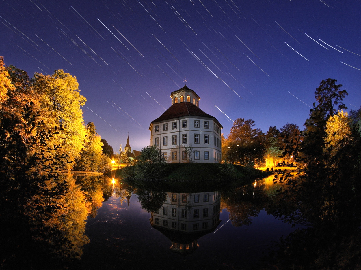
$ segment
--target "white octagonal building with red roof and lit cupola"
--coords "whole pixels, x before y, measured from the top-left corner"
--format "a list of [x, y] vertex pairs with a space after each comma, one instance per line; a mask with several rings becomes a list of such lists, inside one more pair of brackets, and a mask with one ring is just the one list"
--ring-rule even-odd
[[199, 96], [186, 85], [170, 94], [172, 105], [151, 122], [151, 145], [168, 163], [187, 161], [184, 147], [192, 144], [194, 162], [221, 162], [222, 125], [199, 108]]

